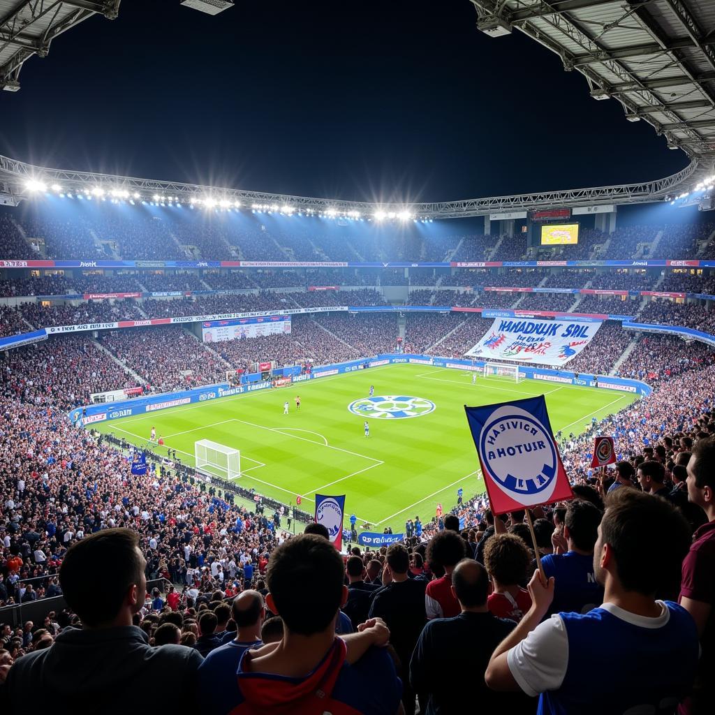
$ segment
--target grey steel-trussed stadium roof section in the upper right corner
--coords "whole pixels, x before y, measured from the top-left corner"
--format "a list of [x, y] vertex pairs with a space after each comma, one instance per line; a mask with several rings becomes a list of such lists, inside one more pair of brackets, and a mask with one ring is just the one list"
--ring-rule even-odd
[[[715, 155], [714, 0], [471, 1], [479, 29], [519, 29], [548, 47], [586, 77], [594, 99], [616, 99], [669, 149]], [[548, 92], [548, 81], [535, 91]], [[564, 119], [556, 107], [554, 119]]]

